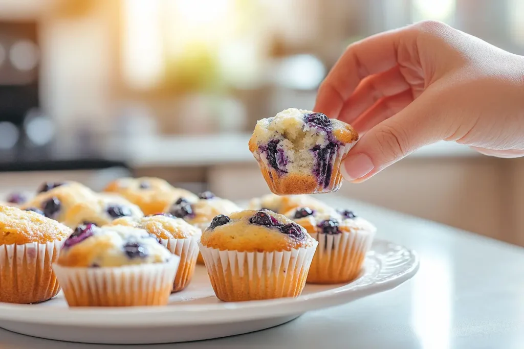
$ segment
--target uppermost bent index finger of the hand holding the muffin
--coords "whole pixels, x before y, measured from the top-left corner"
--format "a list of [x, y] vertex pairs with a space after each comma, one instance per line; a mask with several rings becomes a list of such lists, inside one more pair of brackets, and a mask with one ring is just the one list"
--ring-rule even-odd
[[397, 65], [397, 49], [406, 29], [379, 33], [348, 46], [322, 82], [313, 110], [338, 118], [346, 100], [361, 81]]

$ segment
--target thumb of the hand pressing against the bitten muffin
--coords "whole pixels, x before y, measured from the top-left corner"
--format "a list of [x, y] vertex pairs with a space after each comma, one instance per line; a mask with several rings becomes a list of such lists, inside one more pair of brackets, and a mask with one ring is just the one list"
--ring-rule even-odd
[[341, 165], [344, 179], [360, 183], [413, 151], [446, 138], [445, 118], [420, 96], [358, 140]]

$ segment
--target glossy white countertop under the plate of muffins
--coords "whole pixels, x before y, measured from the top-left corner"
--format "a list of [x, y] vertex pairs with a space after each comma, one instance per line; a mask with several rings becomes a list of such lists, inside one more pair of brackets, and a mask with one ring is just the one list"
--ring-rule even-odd
[[[328, 197], [376, 223], [378, 237], [420, 255], [419, 273], [400, 287], [346, 306], [304, 314], [280, 327], [219, 340], [155, 348], [522, 348], [524, 249], [437, 223]], [[0, 330], [2, 349], [110, 349]]]

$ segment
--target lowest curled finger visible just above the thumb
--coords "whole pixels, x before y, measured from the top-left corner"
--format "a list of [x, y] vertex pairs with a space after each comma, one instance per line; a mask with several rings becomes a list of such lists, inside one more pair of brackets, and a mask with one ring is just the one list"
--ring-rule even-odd
[[406, 108], [411, 102], [413, 102], [411, 89], [402, 91], [394, 96], [384, 97], [367, 110], [361, 117], [356, 119], [352, 123], [352, 126], [362, 137], [379, 122], [394, 116], [400, 110]]

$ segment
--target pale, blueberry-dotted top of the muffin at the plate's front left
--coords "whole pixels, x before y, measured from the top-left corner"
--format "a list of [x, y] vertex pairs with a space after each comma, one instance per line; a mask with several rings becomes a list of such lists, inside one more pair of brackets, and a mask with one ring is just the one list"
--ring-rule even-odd
[[67, 267], [121, 267], [169, 262], [173, 255], [144, 229], [79, 226], [65, 240], [57, 264]]

